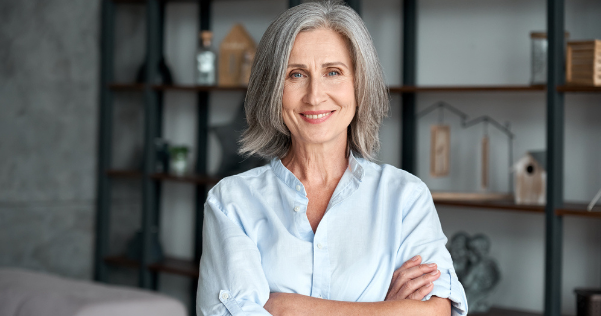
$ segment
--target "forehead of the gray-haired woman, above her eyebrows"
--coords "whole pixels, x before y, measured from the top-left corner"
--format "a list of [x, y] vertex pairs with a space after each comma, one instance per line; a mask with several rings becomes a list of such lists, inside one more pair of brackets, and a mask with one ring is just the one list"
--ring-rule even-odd
[[349, 44], [346, 38], [331, 29], [299, 32], [296, 38], [294, 38], [294, 44], [290, 52], [290, 61], [299, 58], [351, 60]]

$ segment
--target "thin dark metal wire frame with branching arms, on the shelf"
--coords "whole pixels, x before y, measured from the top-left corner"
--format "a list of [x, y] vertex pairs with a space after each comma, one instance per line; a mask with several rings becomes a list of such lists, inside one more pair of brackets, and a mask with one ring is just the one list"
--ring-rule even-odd
[[[488, 156], [488, 144], [489, 144], [489, 142], [488, 142], [488, 127], [489, 127], [489, 124], [492, 124], [492, 126], [496, 127], [498, 130], [500, 130], [505, 135], [507, 135], [507, 139], [508, 139], [508, 143], [509, 143], [509, 146], [508, 146], [508, 148], [509, 148], [509, 150], [508, 150], [509, 168], [508, 168], [508, 170], [511, 170], [511, 167], [513, 166], [513, 139], [515, 138], [515, 135], [510, 130], [511, 126], [510, 126], [509, 122], [506, 122], [505, 124], [501, 124], [494, 118], [490, 117], [489, 115], [482, 115], [480, 117], [469, 120], [468, 114], [466, 114], [465, 112], [461, 111], [460, 109], [457, 109], [455, 106], [450, 105], [449, 103], [444, 102], [444, 101], [439, 101], [439, 102], [434, 103], [433, 105], [428, 106], [427, 108], [423, 109], [422, 111], [419, 111], [415, 116], [419, 120], [420, 118], [423, 118], [425, 115], [438, 110], [438, 121], [439, 121], [439, 123], [442, 123], [442, 121], [444, 120], [444, 109], [447, 109], [447, 111], [459, 116], [461, 118], [461, 126], [464, 129], [467, 129], [469, 127], [475, 126], [480, 123], [484, 123], [484, 138], [483, 138], [482, 144], [483, 144], [483, 157], [486, 160], [487, 160], [487, 156]], [[509, 190], [508, 190], [508, 192], [511, 192], [511, 191], [513, 191], [513, 174], [510, 171], [508, 173], [509, 173], [509, 181], [508, 181]], [[483, 172], [482, 177], [483, 177], [482, 184], [486, 184], [486, 185], [483, 185], [483, 188], [486, 189], [487, 184], [488, 184], [488, 175], [485, 174], [485, 172]]]

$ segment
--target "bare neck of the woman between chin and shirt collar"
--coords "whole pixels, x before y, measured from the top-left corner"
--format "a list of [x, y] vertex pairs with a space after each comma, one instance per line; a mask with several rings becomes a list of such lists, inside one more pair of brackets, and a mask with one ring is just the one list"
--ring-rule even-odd
[[292, 139], [282, 165], [305, 185], [338, 184], [349, 166], [346, 138], [334, 144], [301, 144]]

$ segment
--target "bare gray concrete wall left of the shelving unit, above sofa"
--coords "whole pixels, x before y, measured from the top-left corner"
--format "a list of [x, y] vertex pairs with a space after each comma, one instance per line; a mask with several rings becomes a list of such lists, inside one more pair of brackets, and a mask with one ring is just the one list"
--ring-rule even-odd
[[0, 266], [90, 278], [99, 1], [0, 2]]

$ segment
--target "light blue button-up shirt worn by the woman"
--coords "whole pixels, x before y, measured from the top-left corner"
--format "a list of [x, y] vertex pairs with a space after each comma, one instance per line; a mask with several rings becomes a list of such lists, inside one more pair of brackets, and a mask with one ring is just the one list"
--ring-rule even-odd
[[270, 315], [263, 308], [270, 292], [382, 301], [394, 270], [414, 255], [441, 271], [424, 299], [448, 297], [452, 315], [467, 314], [447, 238], [421, 180], [351, 154], [315, 233], [308, 202], [301, 181], [279, 159], [210, 190], [198, 315]]

